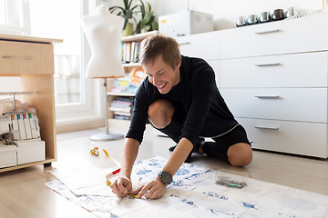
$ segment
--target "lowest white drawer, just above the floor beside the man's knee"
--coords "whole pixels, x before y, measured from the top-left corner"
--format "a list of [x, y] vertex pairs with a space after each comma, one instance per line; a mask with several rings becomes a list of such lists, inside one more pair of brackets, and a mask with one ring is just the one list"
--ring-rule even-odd
[[327, 124], [237, 118], [252, 148], [327, 157]]

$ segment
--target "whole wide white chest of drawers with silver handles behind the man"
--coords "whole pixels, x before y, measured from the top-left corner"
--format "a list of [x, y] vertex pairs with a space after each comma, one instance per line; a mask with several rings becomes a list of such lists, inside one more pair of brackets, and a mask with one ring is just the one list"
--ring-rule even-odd
[[179, 37], [261, 150], [327, 158], [328, 15]]

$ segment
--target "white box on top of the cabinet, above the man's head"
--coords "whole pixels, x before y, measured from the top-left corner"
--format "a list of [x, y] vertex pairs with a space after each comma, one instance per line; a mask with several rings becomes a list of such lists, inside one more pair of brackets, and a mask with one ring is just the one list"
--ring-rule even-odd
[[210, 32], [213, 26], [213, 15], [198, 11], [159, 16], [159, 34], [170, 37]]

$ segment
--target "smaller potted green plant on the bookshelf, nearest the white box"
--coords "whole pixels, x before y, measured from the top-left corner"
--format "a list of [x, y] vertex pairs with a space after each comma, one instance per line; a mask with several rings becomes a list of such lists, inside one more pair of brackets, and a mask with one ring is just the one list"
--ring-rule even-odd
[[159, 30], [159, 23], [155, 20], [150, 4], [147, 3], [147, 7], [145, 8], [145, 5], [141, 2], [139, 7], [141, 11], [141, 19], [138, 22], [135, 33], [142, 34], [152, 30]]

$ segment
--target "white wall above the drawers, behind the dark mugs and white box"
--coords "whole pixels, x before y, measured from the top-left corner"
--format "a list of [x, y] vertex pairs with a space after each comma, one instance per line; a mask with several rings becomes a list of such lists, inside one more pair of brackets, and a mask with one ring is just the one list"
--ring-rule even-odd
[[[115, 2], [115, 1], [112, 1]], [[263, 11], [296, 6], [300, 14], [322, 9], [322, 0], [148, 0], [156, 17], [188, 10], [197, 10], [214, 16], [214, 29], [235, 27], [238, 16], [260, 15]]]

